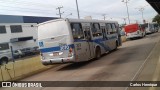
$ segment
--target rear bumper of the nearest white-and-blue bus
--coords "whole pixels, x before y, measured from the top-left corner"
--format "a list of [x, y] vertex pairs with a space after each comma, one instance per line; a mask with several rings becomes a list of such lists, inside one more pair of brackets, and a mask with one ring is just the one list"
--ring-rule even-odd
[[56, 58], [56, 59], [44, 59], [42, 60], [43, 65], [52, 65], [52, 64], [60, 64], [60, 63], [72, 63], [75, 62], [74, 56], [67, 58]]

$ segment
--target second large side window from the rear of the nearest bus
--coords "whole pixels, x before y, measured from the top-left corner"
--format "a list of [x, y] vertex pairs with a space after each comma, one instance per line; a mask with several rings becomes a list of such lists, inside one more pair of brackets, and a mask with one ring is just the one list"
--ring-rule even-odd
[[93, 24], [92, 34], [93, 34], [93, 37], [102, 36], [102, 30], [100, 29], [100, 26], [98, 23]]

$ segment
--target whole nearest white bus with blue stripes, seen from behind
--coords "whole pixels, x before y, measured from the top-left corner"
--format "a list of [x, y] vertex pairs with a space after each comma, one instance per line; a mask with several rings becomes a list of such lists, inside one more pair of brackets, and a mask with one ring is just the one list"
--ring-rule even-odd
[[88, 61], [121, 45], [118, 22], [57, 19], [38, 25], [44, 65]]

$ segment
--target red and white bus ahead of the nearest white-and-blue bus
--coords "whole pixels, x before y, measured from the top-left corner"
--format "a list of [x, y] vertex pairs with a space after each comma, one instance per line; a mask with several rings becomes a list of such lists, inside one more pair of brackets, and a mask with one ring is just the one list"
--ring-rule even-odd
[[124, 29], [128, 39], [145, 36], [145, 29], [139, 24], [129, 24]]

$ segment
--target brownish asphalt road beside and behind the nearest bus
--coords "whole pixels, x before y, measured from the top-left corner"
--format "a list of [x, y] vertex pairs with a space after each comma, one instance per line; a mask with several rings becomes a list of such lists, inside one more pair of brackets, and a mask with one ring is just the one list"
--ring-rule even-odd
[[[151, 81], [160, 75], [158, 45], [160, 33], [123, 43], [99, 60], [62, 64], [22, 81]], [[154, 54], [154, 55], [153, 55]], [[157, 78], [160, 80], [160, 77]], [[0, 90], [125, 90], [126, 87], [0, 88]], [[141, 89], [141, 88], [140, 88]], [[146, 90], [146, 88], [144, 88]], [[148, 89], [148, 88], [147, 88]], [[149, 88], [152, 90], [152, 88]], [[137, 90], [128, 88], [128, 90]], [[158, 89], [157, 89], [158, 90]]]

